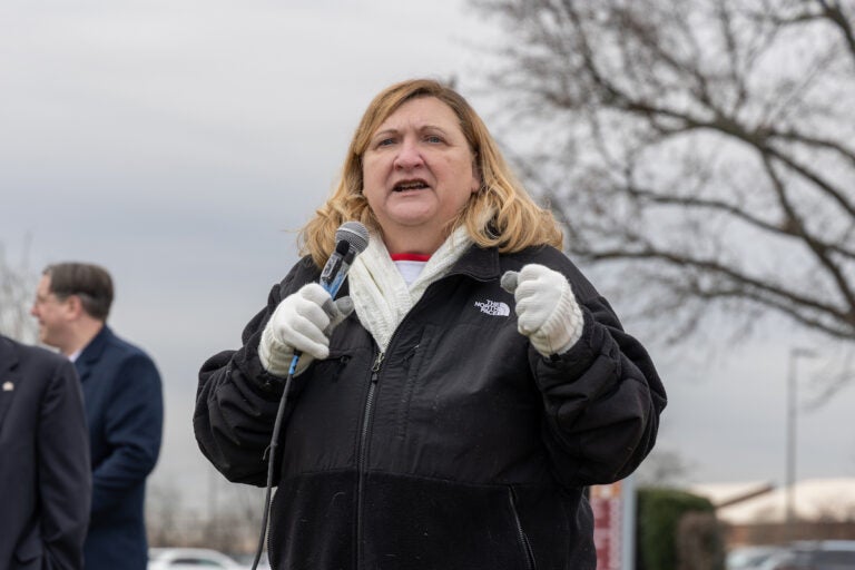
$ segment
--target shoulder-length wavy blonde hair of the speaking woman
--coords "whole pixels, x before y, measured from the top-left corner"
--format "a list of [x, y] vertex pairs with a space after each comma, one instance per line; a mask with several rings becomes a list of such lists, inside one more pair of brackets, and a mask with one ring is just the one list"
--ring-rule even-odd
[[299, 232], [301, 255], [311, 255], [323, 267], [335, 247], [335, 230], [345, 222], [358, 220], [382, 236], [383, 230], [362, 194], [362, 157], [380, 125], [401, 105], [416, 97], [435, 97], [454, 111], [481, 176], [481, 188], [471, 195], [448, 232], [464, 225], [481, 247], [501, 253], [533, 245], [561, 248], [563, 235], [552, 213], [538, 206], [511, 171], [499, 147], [469, 102], [452, 88], [432, 79], [411, 79], [381, 91], [356, 127], [342, 177], [330, 198]]

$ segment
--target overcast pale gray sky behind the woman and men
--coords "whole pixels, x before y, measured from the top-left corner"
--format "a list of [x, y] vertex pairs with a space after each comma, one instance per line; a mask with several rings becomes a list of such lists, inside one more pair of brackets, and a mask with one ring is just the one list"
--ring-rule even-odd
[[[237, 347], [296, 261], [293, 230], [331, 189], [370, 99], [454, 76], [490, 122], [476, 46], [495, 45], [492, 26], [462, 0], [2, 3], [0, 244], [17, 261], [29, 239], [33, 269], [80, 259], [114, 274], [110, 324], [164, 377], [156, 484], [207, 480], [190, 428], [197, 370]], [[660, 449], [695, 481], [782, 482], [787, 354], [804, 342], [773, 323], [738, 347], [651, 347], [670, 396]], [[815, 368], [800, 361], [799, 377]], [[800, 416], [800, 476], [855, 475], [852, 410], [849, 387]]]

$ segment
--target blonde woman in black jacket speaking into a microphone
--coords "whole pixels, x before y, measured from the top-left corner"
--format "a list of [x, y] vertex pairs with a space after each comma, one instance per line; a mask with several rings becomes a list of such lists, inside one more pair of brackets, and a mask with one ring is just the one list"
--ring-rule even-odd
[[[333, 304], [318, 279], [353, 222], [367, 247]], [[199, 374], [202, 451], [264, 485], [292, 373], [273, 568], [596, 568], [586, 488], [638, 466], [666, 395], [561, 239], [458, 92], [374, 98], [305, 256]]]

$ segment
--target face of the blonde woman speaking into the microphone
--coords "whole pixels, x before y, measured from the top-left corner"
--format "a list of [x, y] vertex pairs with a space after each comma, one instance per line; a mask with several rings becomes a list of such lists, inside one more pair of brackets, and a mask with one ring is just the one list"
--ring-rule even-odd
[[362, 157], [363, 195], [392, 253], [433, 253], [481, 183], [454, 111], [411, 99], [372, 135]]

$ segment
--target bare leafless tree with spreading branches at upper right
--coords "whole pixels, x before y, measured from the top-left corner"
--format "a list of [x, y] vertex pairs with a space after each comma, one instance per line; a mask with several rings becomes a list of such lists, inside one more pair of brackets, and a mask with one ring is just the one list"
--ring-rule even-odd
[[514, 164], [637, 314], [855, 341], [851, 1], [474, 3], [508, 26]]

